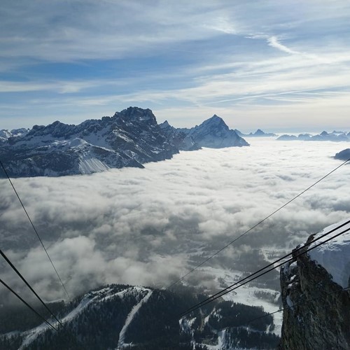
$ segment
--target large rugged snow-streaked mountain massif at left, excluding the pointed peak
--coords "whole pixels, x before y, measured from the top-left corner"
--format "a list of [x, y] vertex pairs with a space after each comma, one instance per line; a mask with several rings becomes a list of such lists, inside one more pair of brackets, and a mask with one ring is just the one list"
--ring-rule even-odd
[[130, 107], [79, 125], [35, 125], [3, 142], [0, 157], [10, 176], [62, 176], [143, 167], [177, 152], [150, 109]]

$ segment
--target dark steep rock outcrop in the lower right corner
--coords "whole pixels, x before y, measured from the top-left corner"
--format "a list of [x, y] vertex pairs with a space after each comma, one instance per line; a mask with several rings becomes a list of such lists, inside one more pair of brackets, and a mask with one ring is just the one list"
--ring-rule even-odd
[[300, 252], [294, 250], [295, 260], [281, 269], [285, 310], [279, 349], [350, 349], [350, 292]]

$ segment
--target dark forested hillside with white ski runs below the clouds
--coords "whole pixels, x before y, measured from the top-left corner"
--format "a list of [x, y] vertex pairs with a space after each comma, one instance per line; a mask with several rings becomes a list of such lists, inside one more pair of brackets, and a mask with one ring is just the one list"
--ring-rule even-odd
[[260, 307], [216, 300], [180, 318], [182, 311], [204, 297], [188, 288], [171, 292], [110, 285], [67, 304], [49, 304], [64, 325], [62, 328], [55, 324], [56, 332], [45, 323], [26, 327], [18, 315], [19, 309], [16, 318], [16, 311], [10, 314], [7, 308], [7, 314], [0, 315], [0, 348], [275, 349], [279, 337], [271, 332], [273, 318]]

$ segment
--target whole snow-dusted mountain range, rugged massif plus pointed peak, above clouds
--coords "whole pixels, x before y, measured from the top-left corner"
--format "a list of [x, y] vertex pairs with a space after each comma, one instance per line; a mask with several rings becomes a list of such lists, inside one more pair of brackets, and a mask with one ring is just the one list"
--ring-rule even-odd
[[0, 132], [0, 160], [13, 177], [142, 168], [144, 163], [170, 159], [179, 151], [232, 146], [249, 145], [218, 116], [190, 129], [176, 129], [167, 122], [158, 125], [150, 109], [138, 107], [79, 125], [56, 121], [34, 125], [31, 130]]

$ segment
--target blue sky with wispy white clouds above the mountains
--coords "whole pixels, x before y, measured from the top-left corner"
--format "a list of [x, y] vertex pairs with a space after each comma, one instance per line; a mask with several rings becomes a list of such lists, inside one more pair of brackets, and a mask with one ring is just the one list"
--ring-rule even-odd
[[191, 127], [350, 130], [347, 0], [3, 0], [0, 129], [128, 106]]

